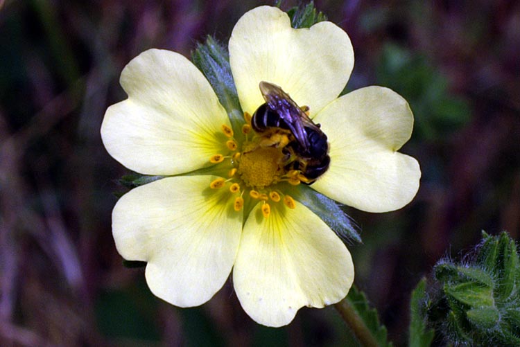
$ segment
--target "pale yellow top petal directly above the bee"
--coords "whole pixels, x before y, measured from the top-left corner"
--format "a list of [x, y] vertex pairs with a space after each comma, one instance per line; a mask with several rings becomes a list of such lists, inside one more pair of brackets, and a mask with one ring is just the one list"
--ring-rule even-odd
[[259, 82], [267, 81], [314, 115], [347, 84], [354, 51], [347, 33], [329, 21], [293, 29], [285, 12], [261, 6], [236, 23], [229, 62], [244, 111], [252, 114], [264, 103]]

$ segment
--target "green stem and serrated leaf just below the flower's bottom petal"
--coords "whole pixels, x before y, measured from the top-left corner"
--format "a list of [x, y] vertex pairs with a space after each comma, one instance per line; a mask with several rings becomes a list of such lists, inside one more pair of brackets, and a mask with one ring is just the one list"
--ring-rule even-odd
[[355, 286], [350, 288], [343, 301], [336, 304], [336, 308], [362, 346], [392, 346], [387, 339], [385, 326], [379, 322], [377, 311], [370, 307], [365, 294]]

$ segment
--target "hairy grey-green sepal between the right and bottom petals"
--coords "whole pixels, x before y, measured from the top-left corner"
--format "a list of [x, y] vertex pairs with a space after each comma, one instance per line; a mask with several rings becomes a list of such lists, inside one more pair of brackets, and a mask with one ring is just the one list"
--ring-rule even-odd
[[318, 215], [343, 242], [362, 242], [358, 232], [359, 226], [333, 199], [304, 184], [298, 186], [287, 184], [283, 191]]

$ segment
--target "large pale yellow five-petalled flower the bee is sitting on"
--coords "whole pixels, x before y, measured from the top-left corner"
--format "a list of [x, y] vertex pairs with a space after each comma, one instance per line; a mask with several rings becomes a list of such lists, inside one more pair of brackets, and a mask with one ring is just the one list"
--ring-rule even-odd
[[304, 305], [343, 299], [354, 266], [331, 228], [287, 193], [305, 177], [287, 168], [286, 143], [266, 145], [271, 138], [251, 130], [247, 115], [265, 102], [259, 82], [309, 107], [327, 135], [330, 166], [310, 187], [364, 211], [392, 211], [415, 196], [419, 164], [397, 152], [410, 138], [413, 114], [383, 87], [338, 98], [354, 53], [347, 34], [328, 21], [293, 29], [278, 8], [254, 8], [234, 27], [229, 62], [246, 115], [240, 134], [182, 55], [151, 49], [123, 69], [128, 99], [107, 109], [103, 143], [127, 168], [166, 177], [119, 199], [114, 240], [123, 258], [148, 263], [146, 281], [159, 298], [201, 305], [232, 272], [245, 312], [284, 326]]

